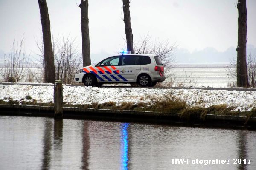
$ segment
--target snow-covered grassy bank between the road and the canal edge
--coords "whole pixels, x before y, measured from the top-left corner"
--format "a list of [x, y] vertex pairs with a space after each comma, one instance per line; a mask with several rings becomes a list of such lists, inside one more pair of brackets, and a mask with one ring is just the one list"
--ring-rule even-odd
[[[147, 88], [97, 88], [63, 85], [63, 102], [75, 104], [91, 104], [116, 102], [139, 102], [151, 105], [152, 99], [164, 99], [166, 95], [186, 101], [189, 106], [208, 108], [212, 105], [226, 104], [235, 107], [235, 111], [250, 111], [256, 108], [256, 91], [226, 91], [201, 89], [147, 89]], [[30, 96], [30, 97], [26, 97]], [[38, 103], [53, 102], [53, 86], [33, 85], [0, 85], [0, 100], [8, 102], [31, 101]]]

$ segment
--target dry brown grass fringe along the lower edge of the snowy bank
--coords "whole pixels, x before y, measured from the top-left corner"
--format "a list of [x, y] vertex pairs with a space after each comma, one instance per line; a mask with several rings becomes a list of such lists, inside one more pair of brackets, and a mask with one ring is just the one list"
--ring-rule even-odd
[[[7, 98], [6, 98], [7, 99]], [[36, 100], [31, 99], [27, 102], [24, 99], [20, 101], [14, 101], [8, 99], [9, 102], [0, 100], [0, 104], [21, 104], [21, 105], [38, 105], [38, 106], [54, 106], [53, 102], [50, 103], [38, 103]], [[213, 105], [209, 108], [199, 106], [188, 106], [185, 101], [173, 97], [172, 94], [168, 94], [164, 97], [152, 98], [151, 104], [148, 105], [144, 102], [132, 103], [122, 102], [116, 105], [116, 102], [110, 101], [105, 103], [91, 103], [86, 105], [72, 105], [69, 103], [63, 103], [64, 107], [76, 107], [76, 108], [94, 108], [94, 109], [113, 109], [113, 110], [131, 110], [131, 111], [153, 111], [160, 113], [180, 113], [180, 117], [184, 119], [191, 119], [192, 117], [198, 117], [205, 119], [207, 114], [215, 115], [230, 115], [230, 116], [247, 116], [249, 119], [251, 116], [256, 117], [256, 108], [251, 111], [233, 111], [234, 107], [228, 107], [226, 104]]]

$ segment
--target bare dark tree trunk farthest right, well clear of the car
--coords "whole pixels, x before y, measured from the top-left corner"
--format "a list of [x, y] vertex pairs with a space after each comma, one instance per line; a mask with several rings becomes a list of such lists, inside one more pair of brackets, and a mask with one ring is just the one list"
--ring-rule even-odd
[[247, 9], [246, 0], [238, 0], [238, 45], [237, 51], [237, 86], [249, 87], [246, 64]]

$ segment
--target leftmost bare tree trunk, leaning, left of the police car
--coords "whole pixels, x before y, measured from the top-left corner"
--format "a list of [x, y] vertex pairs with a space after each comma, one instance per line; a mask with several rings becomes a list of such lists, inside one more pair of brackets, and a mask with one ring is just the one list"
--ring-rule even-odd
[[54, 83], [55, 68], [51, 41], [51, 24], [46, 0], [38, 0], [44, 43], [45, 82]]

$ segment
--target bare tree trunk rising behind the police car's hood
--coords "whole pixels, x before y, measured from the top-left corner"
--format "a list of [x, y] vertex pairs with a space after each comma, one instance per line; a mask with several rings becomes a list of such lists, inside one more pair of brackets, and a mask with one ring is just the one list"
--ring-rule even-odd
[[81, 8], [82, 53], [84, 67], [91, 65], [88, 6], [88, 0], [81, 0], [79, 7]]

